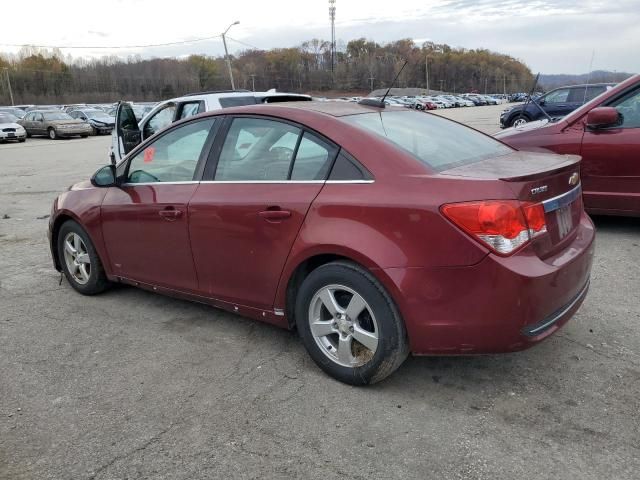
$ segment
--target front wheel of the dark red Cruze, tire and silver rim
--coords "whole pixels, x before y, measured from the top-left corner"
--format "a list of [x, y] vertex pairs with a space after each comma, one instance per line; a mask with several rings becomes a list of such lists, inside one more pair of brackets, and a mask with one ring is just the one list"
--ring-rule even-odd
[[109, 287], [100, 257], [89, 235], [77, 222], [67, 220], [62, 224], [56, 243], [62, 271], [75, 290], [83, 295], [96, 295]]

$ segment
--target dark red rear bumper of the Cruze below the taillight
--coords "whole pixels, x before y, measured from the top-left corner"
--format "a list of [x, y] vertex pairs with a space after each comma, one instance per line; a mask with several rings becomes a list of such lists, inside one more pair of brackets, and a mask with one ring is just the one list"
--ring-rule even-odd
[[586, 297], [595, 229], [583, 213], [573, 241], [541, 260], [533, 249], [468, 267], [384, 272], [411, 351], [422, 355], [524, 350], [560, 329]]

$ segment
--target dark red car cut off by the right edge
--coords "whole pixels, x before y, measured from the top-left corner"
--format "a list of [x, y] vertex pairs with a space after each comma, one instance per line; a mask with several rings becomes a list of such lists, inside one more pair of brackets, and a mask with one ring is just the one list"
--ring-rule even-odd
[[510, 128], [496, 137], [519, 150], [581, 155], [587, 211], [640, 216], [640, 75], [562, 119]]

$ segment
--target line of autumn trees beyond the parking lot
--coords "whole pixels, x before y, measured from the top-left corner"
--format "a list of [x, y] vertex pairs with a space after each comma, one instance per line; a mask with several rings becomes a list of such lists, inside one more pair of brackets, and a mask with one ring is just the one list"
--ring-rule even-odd
[[[233, 55], [236, 88], [366, 94], [391, 85], [453, 93], [510, 93], [531, 88], [521, 61], [486, 49], [453, 48], [410, 39], [379, 44], [365, 38], [341, 45], [313, 39], [292, 48], [248, 49]], [[189, 92], [229, 89], [225, 59], [206, 55], [143, 59], [140, 56], [71, 58], [57, 49], [24, 47], [0, 55], [0, 104], [157, 101]]]

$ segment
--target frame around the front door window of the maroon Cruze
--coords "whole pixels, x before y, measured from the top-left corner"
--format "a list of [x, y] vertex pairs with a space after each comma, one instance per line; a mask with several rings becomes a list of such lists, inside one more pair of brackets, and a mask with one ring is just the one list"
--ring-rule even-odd
[[[178, 129], [178, 128], [183, 128], [186, 127], [187, 125], [192, 125], [194, 123], [198, 123], [198, 122], [206, 122], [206, 121], [211, 121], [213, 119], [213, 124], [211, 125], [211, 130], [209, 131], [209, 134], [207, 135], [207, 139], [204, 142], [204, 145], [202, 146], [202, 150], [200, 151], [200, 156], [198, 157], [198, 164], [196, 165], [196, 169], [193, 173], [193, 179], [189, 180], [189, 181], [180, 181], [180, 182], [145, 182], [145, 183], [127, 183], [127, 179], [129, 178], [129, 166], [131, 165], [131, 161], [139, 154], [142, 153], [144, 151], [144, 149], [146, 149], [147, 147], [153, 145], [154, 143], [156, 143], [157, 141], [159, 141], [160, 139], [162, 139], [165, 135], [170, 134], [171, 132], [173, 132], [174, 130]], [[207, 159], [209, 158], [210, 154], [211, 154], [211, 150], [212, 150], [212, 146], [215, 142], [215, 140], [218, 137], [219, 131], [220, 131], [220, 126], [221, 126], [221, 119], [217, 118], [217, 117], [204, 117], [204, 118], [198, 118], [195, 119], [193, 121], [188, 121], [188, 122], [184, 122], [184, 123], [178, 123], [176, 125], [171, 126], [170, 128], [167, 128], [166, 130], [162, 131], [160, 134], [158, 134], [158, 136], [153, 136], [153, 137], [149, 137], [149, 138], [153, 138], [153, 140], [148, 141], [145, 140], [142, 143], [140, 143], [140, 145], [136, 146], [136, 148], [134, 148], [133, 150], [131, 150], [131, 152], [129, 152], [127, 154], [126, 157], [124, 157], [122, 159], [122, 162], [120, 164], [118, 164], [118, 166], [116, 167], [116, 174], [117, 174], [117, 178], [119, 180], [119, 183], [121, 186], [137, 186], [137, 185], [176, 185], [176, 184], [183, 184], [183, 183], [200, 183], [202, 181], [203, 178], [203, 174], [204, 174], [204, 169], [205, 166], [207, 164]]]

